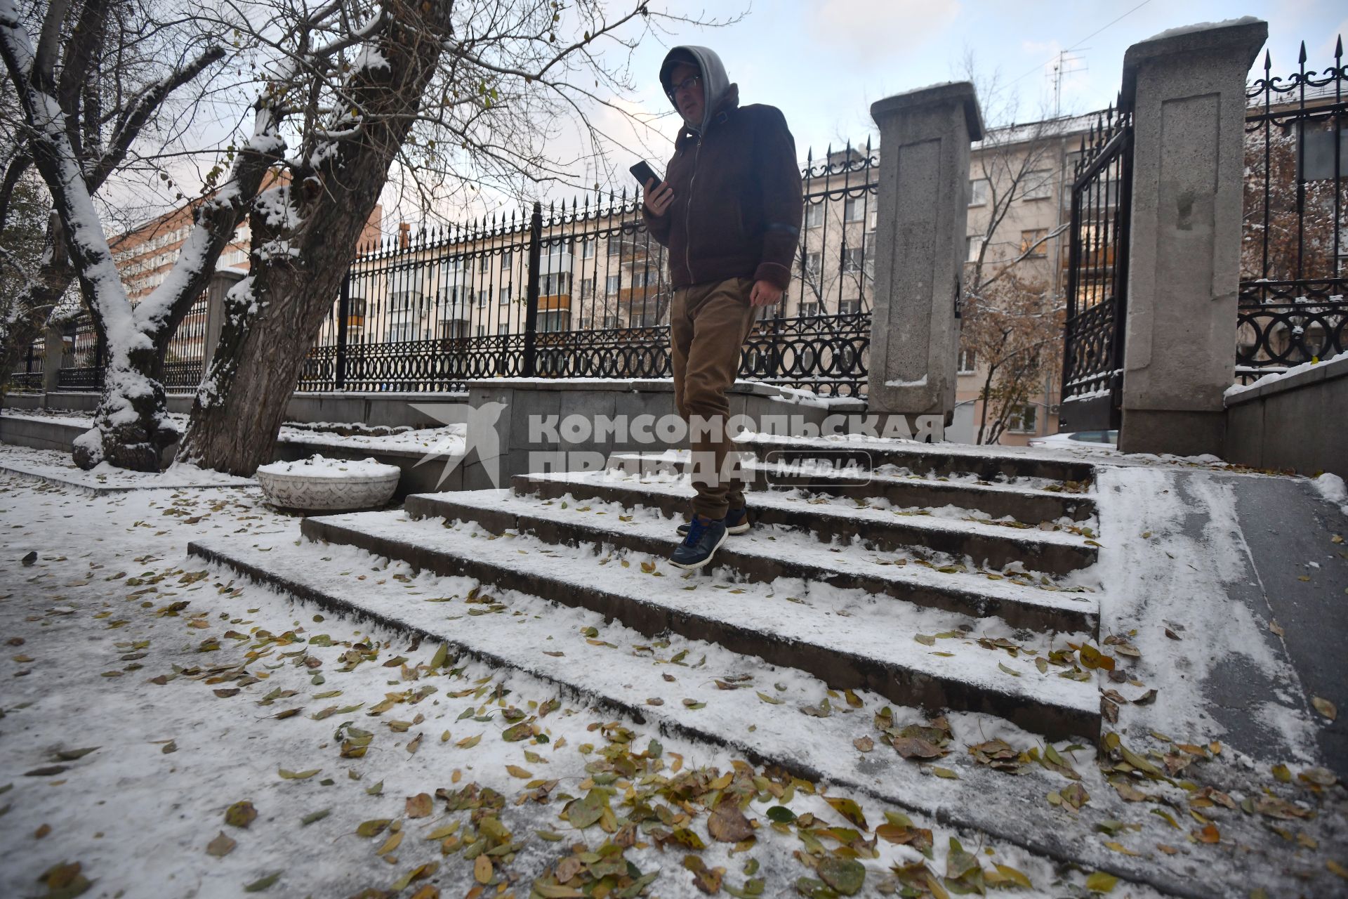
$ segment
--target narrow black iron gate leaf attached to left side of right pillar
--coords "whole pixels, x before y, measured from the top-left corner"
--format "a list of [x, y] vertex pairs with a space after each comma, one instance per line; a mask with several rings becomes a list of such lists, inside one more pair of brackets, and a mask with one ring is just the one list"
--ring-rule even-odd
[[1132, 113], [1111, 106], [1081, 139], [1072, 183], [1062, 430], [1119, 427], [1131, 201]]

